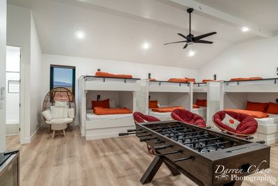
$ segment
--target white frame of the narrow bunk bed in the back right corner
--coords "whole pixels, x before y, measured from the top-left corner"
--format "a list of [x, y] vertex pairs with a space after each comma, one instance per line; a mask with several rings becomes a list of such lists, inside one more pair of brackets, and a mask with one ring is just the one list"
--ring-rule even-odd
[[[216, 112], [220, 111], [220, 98], [222, 98], [220, 82], [195, 83], [193, 93], [206, 93], [206, 124], [214, 127], [212, 118]], [[192, 105], [193, 102], [192, 99]], [[191, 107], [191, 111], [195, 113], [193, 107]]]

